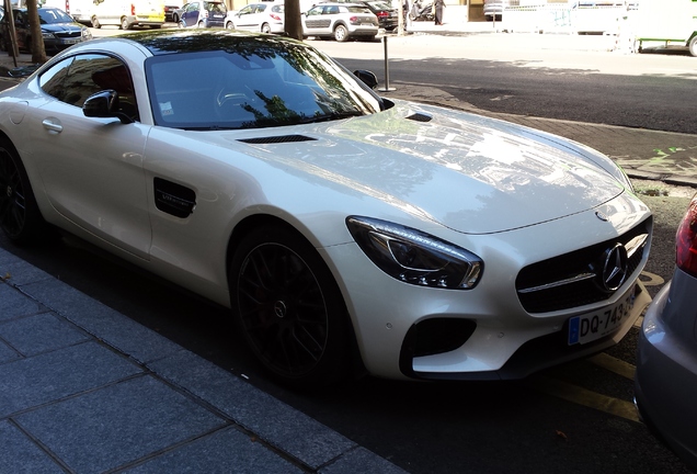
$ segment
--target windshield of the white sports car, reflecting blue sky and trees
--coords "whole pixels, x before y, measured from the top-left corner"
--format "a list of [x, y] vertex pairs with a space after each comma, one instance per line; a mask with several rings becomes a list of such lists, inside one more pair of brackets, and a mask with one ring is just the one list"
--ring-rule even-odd
[[262, 128], [378, 112], [380, 99], [342, 66], [301, 43], [238, 38], [232, 50], [146, 61], [157, 125]]

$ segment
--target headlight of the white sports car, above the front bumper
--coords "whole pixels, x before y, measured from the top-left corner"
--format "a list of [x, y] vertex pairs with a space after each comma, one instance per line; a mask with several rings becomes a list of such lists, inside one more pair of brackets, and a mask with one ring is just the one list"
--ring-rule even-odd
[[346, 226], [373, 263], [404, 283], [470, 290], [481, 279], [479, 257], [421, 230], [361, 216], [348, 216]]

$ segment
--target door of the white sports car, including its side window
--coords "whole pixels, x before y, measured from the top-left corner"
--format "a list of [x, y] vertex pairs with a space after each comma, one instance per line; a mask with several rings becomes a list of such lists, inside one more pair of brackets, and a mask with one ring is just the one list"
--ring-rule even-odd
[[[30, 108], [26, 148], [34, 156], [52, 205], [87, 233], [148, 258], [151, 229], [142, 170], [150, 131], [138, 121], [127, 67], [105, 54], [55, 64], [39, 78], [44, 100]], [[81, 106], [96, 91], [118, 92], [118, 119], [85, 117]]]

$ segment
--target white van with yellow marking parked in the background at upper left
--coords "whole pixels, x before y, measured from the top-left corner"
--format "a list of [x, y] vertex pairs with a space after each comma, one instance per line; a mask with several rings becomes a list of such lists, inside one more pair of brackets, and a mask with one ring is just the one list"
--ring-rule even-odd
[[116, 25], [161, 27], [164, 24], [164, 0], [94, 0], [92, 26]]

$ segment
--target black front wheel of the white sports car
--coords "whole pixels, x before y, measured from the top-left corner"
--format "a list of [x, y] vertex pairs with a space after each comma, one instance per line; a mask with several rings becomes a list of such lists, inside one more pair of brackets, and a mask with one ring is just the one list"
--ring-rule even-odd
[[266, 225], [239, 244], [230, 300], [250, 349], [279, 382], [328, 387], [348, 379], [352, 330], [322, 258], [295, 230]]

